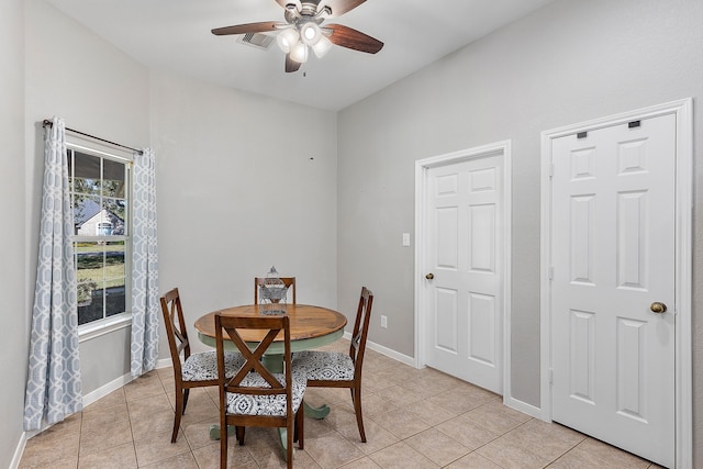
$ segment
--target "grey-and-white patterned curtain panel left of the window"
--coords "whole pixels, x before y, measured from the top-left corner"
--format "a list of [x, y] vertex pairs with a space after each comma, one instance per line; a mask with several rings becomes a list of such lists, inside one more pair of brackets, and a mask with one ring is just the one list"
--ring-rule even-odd
[[24, 429], [54, 424], [82, 409], [78, 359], [78, 308], [64, 121], [45, 136], [44, 194], [36, 289], [32, 311]]

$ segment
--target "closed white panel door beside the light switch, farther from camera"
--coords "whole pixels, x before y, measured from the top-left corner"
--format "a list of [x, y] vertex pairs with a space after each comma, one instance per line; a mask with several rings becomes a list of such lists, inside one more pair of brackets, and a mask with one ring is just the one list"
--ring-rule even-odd
[[502, 158], [429, 168], [427, 366], [502, 393]]

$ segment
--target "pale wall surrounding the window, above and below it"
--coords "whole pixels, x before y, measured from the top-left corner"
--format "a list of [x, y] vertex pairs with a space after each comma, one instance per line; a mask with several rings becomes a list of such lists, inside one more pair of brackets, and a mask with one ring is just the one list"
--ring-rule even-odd
[[[149, 146], [148, 70], [41, 0], [25, 2], [27, 316], [34, 301], [44, 171], [41, 122], [54, 115], [67, 127], [134, 147]], [[130, 371], [130, 328], [83, 342], [83, 394]], [[26, 354], [23, 354], [26, 355]]]

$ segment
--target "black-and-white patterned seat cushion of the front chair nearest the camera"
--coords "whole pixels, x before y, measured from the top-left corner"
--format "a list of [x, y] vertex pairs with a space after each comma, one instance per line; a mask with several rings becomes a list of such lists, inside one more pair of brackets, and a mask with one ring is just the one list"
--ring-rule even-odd
[[[286, 386], [286, 375], [274, 373], [274, 377], [278, 382]], [[305, 379], [305, 375], [293, 372], [291, 381], [293, 413], [295, 413], [303, 401], [308, 380]], [[244, 378], [242, 380], [242, 386], [270, 388], [269, 383], [257, 372], [252, 372]], [[228, 414], [286, 416], [286, 394], [252, 395], [228, 392], [226, 399]]]

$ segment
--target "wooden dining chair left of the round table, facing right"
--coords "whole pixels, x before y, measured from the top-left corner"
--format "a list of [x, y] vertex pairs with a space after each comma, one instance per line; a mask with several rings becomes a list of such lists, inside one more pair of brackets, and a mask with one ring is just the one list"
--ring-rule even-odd
[[[217, 357], [215, 351], [201, 354], [190, 353], [188, 328], [183, 320], [183, 309], [180, 302], [178, 288], [169, 290], [160, 298], [164, 325], [168, 336], [168, 348], [174, 365], [174, 381], [176, 382], [176, 409], [174, 415], [174, 432], [171, 443], [176, 443], [180, 417], [186, 413], [188, 395], [192, 388], [217, 386]], [[183, 355], [181, 361], [181, 353]], [[234, 376], [239, 369], [244, 358], [236, 353], [228, 351], [224, 357], [224, 366], [227, 376]]]

